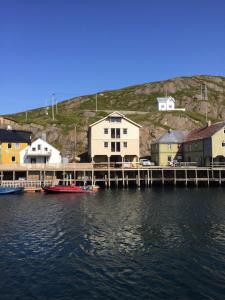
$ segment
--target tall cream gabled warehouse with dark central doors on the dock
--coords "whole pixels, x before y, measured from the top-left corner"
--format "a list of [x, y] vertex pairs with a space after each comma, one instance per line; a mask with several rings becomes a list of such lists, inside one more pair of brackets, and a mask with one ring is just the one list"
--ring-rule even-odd
[[119, 112], [113, 112], [89, 126], [89, 156], [94, 162], [139, 160], [141, 126]]

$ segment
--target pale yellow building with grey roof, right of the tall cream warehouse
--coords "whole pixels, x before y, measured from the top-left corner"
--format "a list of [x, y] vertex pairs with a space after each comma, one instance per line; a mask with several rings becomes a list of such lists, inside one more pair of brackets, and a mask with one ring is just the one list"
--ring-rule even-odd
[[169, 130], [151, 144], [151, 160], [158, 166], [168, 166], [183, 160], [182, 142], [186, 132]]

